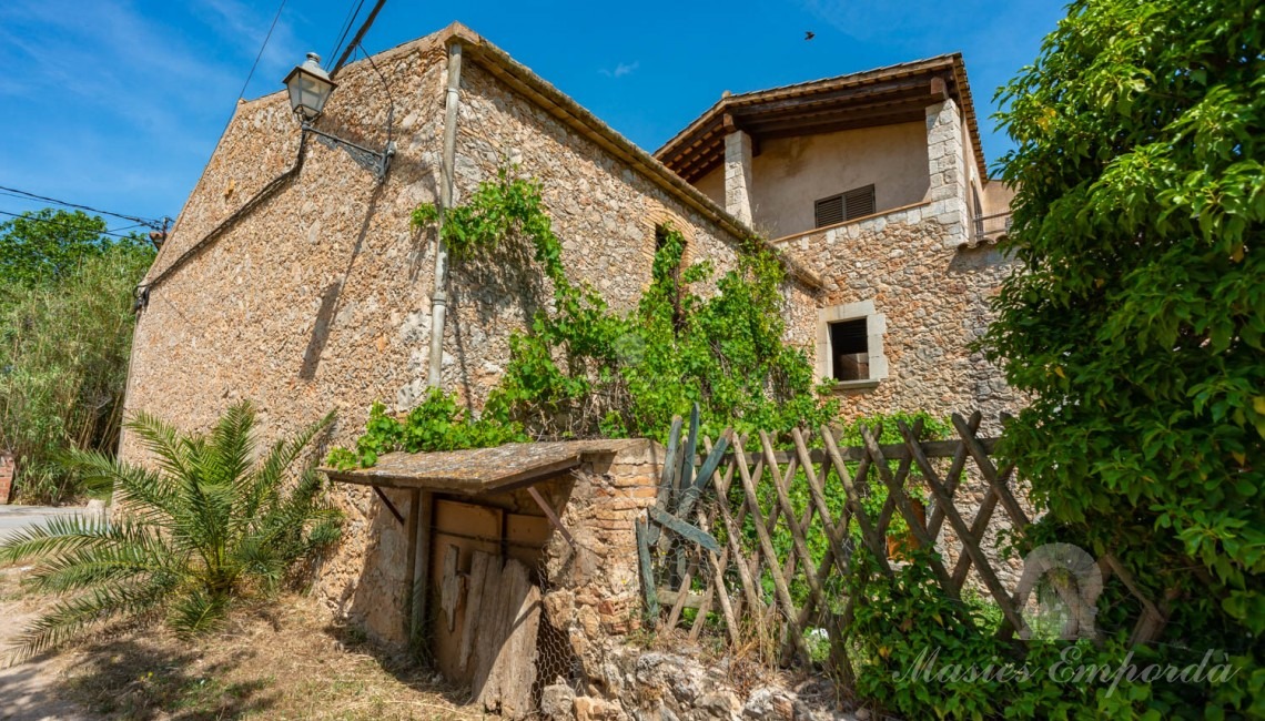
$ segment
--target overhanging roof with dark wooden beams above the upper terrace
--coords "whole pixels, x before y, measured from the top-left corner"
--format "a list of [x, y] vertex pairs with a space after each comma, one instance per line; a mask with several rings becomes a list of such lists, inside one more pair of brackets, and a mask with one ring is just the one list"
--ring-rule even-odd
[[979, 177], [988, 177], [961, 53], [725, 95], [654, 157], [693, 182], [720, 166], [725, 135], [734, 129], [759, 140], [922, 120], [925, 108], [941, 95], [955, 99], [961, 108]]

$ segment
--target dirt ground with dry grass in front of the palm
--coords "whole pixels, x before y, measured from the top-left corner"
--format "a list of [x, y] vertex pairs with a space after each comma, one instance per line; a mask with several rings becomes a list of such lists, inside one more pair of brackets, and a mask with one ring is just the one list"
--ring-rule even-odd
[[[47, 600], [0, 568], [0, 721], [44, 718], [484, 718], [467, 693], [333, 624], [310, 598], [235, 616], [186, 643], [158, 626], [115, 631], [3, 668]], [[495, 718], [495, 717], [493, 717]]]

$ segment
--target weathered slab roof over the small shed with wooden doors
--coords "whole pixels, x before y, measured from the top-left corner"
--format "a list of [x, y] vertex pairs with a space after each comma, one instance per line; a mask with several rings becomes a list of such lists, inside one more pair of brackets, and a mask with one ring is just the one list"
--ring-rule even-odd
[[507, 443], [441, 453], [388, 453], [372, 468], [321, 471], [340, 483], [478, 496], [565, 473], [583, 463], [584, 457], [610, 455], [645, 444], [636, 439]]

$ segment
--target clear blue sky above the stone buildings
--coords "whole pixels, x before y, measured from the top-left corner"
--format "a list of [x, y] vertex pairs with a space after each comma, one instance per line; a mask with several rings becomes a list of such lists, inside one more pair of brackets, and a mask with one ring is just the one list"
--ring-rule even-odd
[[[245, 90], [328, 56], [357, 0], [287, 0]], [[0, 3], [0, 186], [175, 216], [206, 164], [277, 1]], [[364, 3], [363, 14], [373, 5]], [[388, 0], [378, 52], [460, 20], [648, 151], [743, 92], [961, 51], [984, 152], [1007, 148], [993, 90], [1064, 14], [1050, 0], [502, 3]], [[811, 42], [803, 39], [812, 30]], [[39, 207], [0, 196], [0, 210]], [[113, 226], [124, 225], [124, 221]]]

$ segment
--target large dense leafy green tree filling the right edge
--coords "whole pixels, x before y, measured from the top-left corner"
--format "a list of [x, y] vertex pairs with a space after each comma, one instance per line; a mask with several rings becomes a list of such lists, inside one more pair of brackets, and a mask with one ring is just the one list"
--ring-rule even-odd
[[1259, 1], [1082, 0], [1001, 92], [1004, 448], [1046, 527], [1170, 600], [1170, 648], [1238, 655], [1216, 717], [1265, 713], [1262, 48]]

